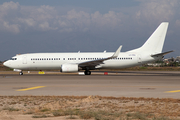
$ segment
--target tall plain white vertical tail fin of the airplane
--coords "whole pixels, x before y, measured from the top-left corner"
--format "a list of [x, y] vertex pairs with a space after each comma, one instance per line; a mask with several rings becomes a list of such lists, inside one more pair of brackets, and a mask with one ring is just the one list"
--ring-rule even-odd
[[149, 37], [149, 39], [138, 49], [131, 50], [129, 52], [149, 52], [149, 53], [161, 53], [164, 45], [164, 40], [166, 37], [166, 32], [169, 23], [163, 22], [154, 31], [154, 33]]

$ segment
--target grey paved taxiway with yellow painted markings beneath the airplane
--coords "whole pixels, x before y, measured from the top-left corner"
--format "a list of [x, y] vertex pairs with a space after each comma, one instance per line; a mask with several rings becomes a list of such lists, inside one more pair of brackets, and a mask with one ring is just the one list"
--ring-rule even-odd
[[0, 74], [0, 95], [180, 98], [180, 72], [126, 71], [78, 74]]

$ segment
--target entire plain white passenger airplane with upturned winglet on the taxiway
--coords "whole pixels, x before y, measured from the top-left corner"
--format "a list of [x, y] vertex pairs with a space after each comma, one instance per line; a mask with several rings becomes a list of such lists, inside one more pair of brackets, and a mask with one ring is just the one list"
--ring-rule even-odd
[[61, 72], [78, 72], [85, 70], [85, 75], [91, 75], [94, 69], [119, 69], [138, 66], [156, 61], [173, 51], [163, 52], [162, 48], [168, 28], [163, 22], [140, 48], [127, 52], [120, 52], [120, 46], [115, 53], [87, 52], [87, 53], [31, 53], [12, 57], [3, 64], [23, 75], [23, 70], [59, 69]]

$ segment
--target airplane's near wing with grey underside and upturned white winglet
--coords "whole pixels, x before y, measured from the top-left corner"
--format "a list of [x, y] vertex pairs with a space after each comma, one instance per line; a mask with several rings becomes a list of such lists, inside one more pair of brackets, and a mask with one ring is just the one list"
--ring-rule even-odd
[[83, 68], [83, 67], [95, 67], [97, 65], [104, 64], [103, 62], [105, 60], [109, 60], [109, 59], [112, 59], [112, 58], [117, 58], [120, 51], [121, 51], [121, 48], [122, 48], [122, 45], [119, 46], [119, 48], [116, 50], [116, 52], [111, 57], [79, 63], [78, 66]]

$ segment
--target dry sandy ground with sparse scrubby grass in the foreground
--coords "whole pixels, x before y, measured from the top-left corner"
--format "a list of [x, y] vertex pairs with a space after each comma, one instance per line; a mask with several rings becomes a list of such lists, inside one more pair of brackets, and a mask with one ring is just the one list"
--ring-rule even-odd
[[180, 119], [180, 99], [0, 96], [0, 120]]

